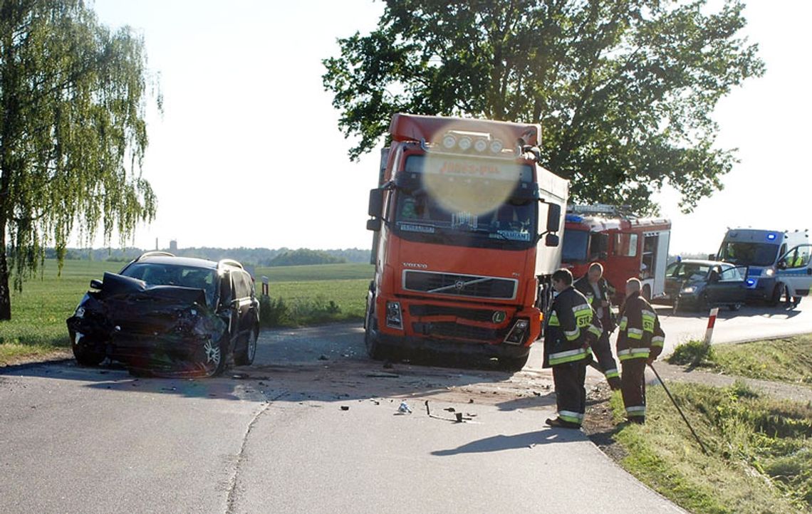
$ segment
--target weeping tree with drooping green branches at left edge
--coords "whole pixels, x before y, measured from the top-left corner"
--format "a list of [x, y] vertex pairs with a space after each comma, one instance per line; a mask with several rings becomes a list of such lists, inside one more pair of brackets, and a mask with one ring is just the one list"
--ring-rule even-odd
[[141, 177], [153, 81], [144, 41], [81, 0], [0, 0], [0, 320], [11, 286], [71, 234], [126, 240], [155, 214]]

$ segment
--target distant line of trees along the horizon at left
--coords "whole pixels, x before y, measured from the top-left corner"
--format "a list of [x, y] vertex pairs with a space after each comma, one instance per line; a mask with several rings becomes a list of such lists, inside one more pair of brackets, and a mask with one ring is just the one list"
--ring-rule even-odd
[[[369, 262], [369, 248], [345, 248], [336, 250], [311, 250], [309, 248], [161, 248], [179, 257], [200, 257], [211, 261], [235, 259], [246, 266], [297, 266], [306, 264], [332, 264], [339, 262]], [[142, 248], [68, 248], [65, 258], [70, 261], [127, 262], [141, 253]], [[53, 248], [45, 250], [45, 258], [55, 259]]]

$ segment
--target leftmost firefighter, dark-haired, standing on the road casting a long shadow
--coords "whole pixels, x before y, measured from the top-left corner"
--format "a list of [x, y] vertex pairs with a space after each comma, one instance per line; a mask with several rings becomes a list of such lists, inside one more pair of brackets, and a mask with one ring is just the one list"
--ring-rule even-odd
[[[591, 358], [587, 334], [592, 326], [592, 308], [585, 296], [572, 287], [569, 270], [552, 276], [553, 300], [544, 332], [544, 367], [552, 367], [558, 417], [546, 420], [550, 426], [579, 429], [586, 408], [586, 363]], [[591, 329], [594, 332], [594, 329]]]

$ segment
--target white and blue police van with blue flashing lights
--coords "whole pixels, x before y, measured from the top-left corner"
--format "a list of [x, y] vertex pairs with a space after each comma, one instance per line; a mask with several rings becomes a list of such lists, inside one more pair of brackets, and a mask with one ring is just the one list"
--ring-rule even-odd
[[730, 229], [724, 235], [719, 261], [749, 266], [745, 280], [749, 300], [798, 305], [812, 286], [812, 244], [809, 231]]

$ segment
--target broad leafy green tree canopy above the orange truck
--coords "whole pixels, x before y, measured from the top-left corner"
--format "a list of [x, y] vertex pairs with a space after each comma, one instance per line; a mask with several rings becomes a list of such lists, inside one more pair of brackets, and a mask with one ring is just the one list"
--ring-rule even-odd
[[322, 61], [339, 127], [373, 149], [391, 114], [542, 123], [542, 165], [575, 201], [653, 212], [672, 184], [689, 212], [722, 188], [716, 102], [763, 73], [743, 4], [706, 0], [387, 0], [378, 28]]

